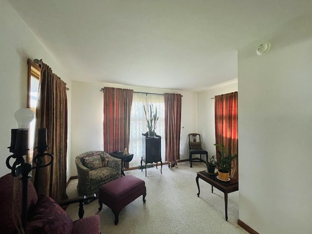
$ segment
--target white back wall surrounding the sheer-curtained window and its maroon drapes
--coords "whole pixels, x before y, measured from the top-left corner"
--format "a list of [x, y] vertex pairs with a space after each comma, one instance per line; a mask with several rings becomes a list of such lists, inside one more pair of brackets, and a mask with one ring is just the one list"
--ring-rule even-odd
[[86, 151], [103, 150], [103, 92], [100, 90], [104, 86], [133, 89], [135, 92], [181, 94], [183, 96], [181, 114], [183, 155], [180, 159], [188, 158], [187, 134], [196, 130], [196, 105], [194, 104], [196, 103], [196, 93], [100, 82], [72, 81], [71, 176], [77, 176], [76, 156]]

